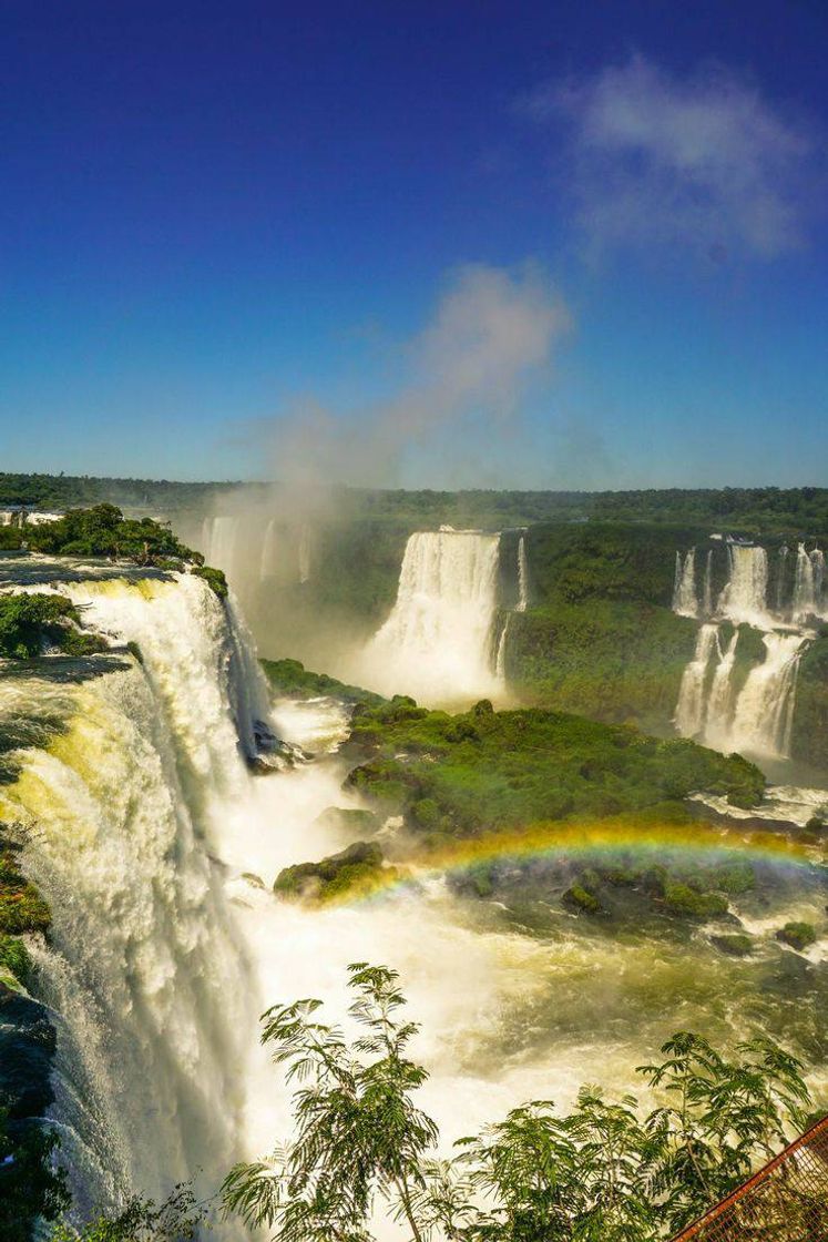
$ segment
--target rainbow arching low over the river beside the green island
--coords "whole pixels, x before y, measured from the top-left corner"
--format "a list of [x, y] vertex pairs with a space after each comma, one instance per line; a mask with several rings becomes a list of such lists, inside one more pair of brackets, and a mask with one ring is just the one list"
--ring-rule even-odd
[[444, 846], [408, 856], [359, 879], [338, 903], [370, 900], [395, 888], [422, 883], [428, 878], [457, 874], [494, 862], [566, 859], [601, 857], [618, 861], [623, 854], [650, 856], [653, 862], [721, 863], [744, 861], [783, 868], [813, 868], [827, 861], [824, 850], [781, 832], [745, 831], [701, 821], [691, 823], [637, 822], [601, 820], [593, 823], [535, 823], [526, 828], [489, 832], [479, 837], [452, 841]]

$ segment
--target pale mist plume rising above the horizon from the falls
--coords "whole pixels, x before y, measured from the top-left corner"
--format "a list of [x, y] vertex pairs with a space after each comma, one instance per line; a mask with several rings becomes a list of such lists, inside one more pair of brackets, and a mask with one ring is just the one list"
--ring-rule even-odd
[[431, 322], [405, 344], [387, 400], [331, 410], [307, 397], [269, 422], [274, 476], [300, 489], [479, 481], [482, 465], [490, 471], [499, 452], [508, 457], [510, 428], [569, 327], [538, 267], [459, 268]]

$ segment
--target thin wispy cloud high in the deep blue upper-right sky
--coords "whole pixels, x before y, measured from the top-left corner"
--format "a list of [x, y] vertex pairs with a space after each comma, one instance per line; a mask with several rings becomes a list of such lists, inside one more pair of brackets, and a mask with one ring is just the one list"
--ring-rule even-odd
[[814, 134], [721, 67], [683, 78], [633, 56], [529, 107], [564, 123], [562, 179], [597, 251], [679, 243], [771, 260], [807, 240]]

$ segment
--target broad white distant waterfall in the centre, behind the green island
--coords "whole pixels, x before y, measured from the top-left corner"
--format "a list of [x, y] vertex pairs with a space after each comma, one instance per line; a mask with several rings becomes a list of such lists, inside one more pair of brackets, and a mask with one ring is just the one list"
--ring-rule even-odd
[[411, 535], [396, 604], [365, 651], [362, 676], [432, 703], [499, 693], [492, 651], [499, 558], [498, 534]]

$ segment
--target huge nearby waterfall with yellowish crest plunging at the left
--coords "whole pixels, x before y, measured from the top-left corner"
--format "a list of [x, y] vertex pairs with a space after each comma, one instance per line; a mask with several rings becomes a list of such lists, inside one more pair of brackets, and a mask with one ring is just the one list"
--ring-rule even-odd
[[38, 965], [73, 1191], [117, 1203], [200, 1172], [212, 1191], [238, 1158], [259, 999], [211, 854], [253, 780], [237, 725], [250, 745], [262, 687], [196, 578], [62, 589], [142, 655], [62, 688], [66, 732], [0, 790], [0, 814], [31, 825], [26, 868], [53, 914]]

